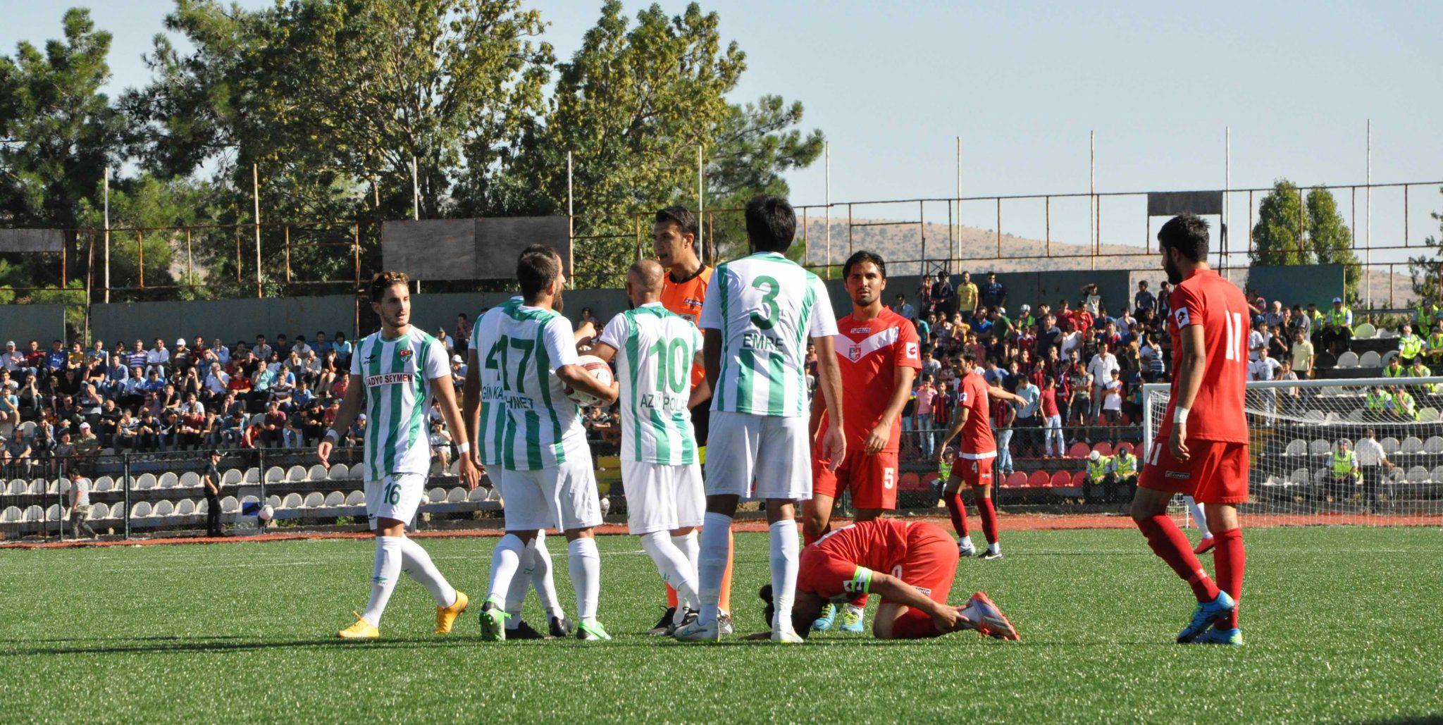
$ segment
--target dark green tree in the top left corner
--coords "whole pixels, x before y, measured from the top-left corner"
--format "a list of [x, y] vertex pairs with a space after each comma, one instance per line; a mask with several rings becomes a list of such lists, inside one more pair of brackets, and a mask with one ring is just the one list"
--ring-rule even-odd
[[[124, 118], [100, 88], [110, 79], [111, 36], [84, 9], [63, 17], [63, 39], [29, 42], [0, 56], [0, 224], [78, 225], [79, 202], [121, 157]], [[66, 235], [71, 270], [79, 267]], [[32, 257], [32, 285], [59, 282], [58, 266]]]

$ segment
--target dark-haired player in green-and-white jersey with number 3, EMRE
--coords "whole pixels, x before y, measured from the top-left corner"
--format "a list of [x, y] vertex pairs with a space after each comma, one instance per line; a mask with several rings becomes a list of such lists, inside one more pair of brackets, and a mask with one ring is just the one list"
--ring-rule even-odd
[[717, 267], [701, 308], [703, 352], [711, 386], [711, 432], [706, 464], [707, 514], [701, 527], [701, 614], [677, 630], [678, 640], [719, 640], [717, 602], [732, 517], [742, 497], [766, 500], [771, 524], [772, 641], [799, 643], [792, 628], [797, 591], [795, 503], [811, 498], [807, 440], [807, 338], [817, 348], [818, 393], [833, 426], [821, 451], [835, 468], [847, 455], [841, 430], [841, 375], [831, 339], [837, 321], [827, 287], [782, 256], [797, 235], [797, 214], [781, 196], [746, 204], [753, 253]]

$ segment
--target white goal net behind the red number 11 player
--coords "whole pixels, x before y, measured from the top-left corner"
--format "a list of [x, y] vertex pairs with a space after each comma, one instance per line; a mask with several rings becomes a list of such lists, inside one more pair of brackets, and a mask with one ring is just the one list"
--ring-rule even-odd
[[[1144, 451], [1169, 394], [1144, 386]], [[1248, 383], [1251, 497], [1240, 513], [1248, 526], [1443, 524], [1440, 407], [1443, 377]], [[1182, 497], [1172, 510], [1189, 518]]]

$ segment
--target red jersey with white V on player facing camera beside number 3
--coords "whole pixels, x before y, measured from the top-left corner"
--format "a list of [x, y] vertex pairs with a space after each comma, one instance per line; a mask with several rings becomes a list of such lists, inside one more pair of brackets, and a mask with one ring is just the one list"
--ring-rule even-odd
[[[922, 351], [916, 328], [902, 315], [882, 308], [882, 313], [866, 322], [847, 315], [837, 321], [837, 364], [841, 368], [841, 412], [846, 417], [843, 433], [847, 451], [861, 451], [863, 442], [892, 401], [899, 367], [922, 370]], [[827, 417], [823, 413], [825, 429]], [[902, 440], [902, 417], [892, 422], [887, 446], [896, 452]]]

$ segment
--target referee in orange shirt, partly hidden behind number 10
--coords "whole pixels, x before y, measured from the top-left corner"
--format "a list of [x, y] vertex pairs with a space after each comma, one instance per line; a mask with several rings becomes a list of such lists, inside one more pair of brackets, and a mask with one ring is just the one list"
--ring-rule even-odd
[[[698, 244], [701, 244], [701, 227], [697, 217], [685, 207], [667, 207], [657, 212], [652, 225], [651, 248], [657, 254], [667, 274], [662, 276], [661, 306], [667, 308], [693, 325], [701, 319], [701, 305], [707, 299], [707, 287], [711, 285], [713, 269], [701, 263]], [[691, 368], [691, 387], [696, 390], [707, 377], [706, 365], [697, 364]], [[691, 427], [697, 435], [697, 451], [703, 461], [707, 452], [707, 429], [711, 422], [710, 396], [694, 399], [691, 406]], [[697, 565], [697, 527], [683, 526], [677, 529], [680, 536], [672, 540]], [[674, 531], [675, 533], [675, 531]], [[726, 570], [722, 575], [722, 601], [719, 604], [722, 634], [732, 634], [732, 552], [736, 546], [729, 543]], [[649, 634], [672, 634], [672, 618], [677, 614], [677, 589], [667, 585], [667, 612], [661, 615], [657, 627]]]

